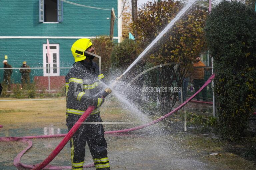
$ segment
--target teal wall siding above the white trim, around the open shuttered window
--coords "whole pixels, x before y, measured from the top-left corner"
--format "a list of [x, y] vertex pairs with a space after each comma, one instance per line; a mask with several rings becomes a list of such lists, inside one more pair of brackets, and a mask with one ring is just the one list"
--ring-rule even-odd
[[[115, 10], [117, 0], [86, 0], [72, 2]], [[109, 35], [111, 11], [85, 8], [63, 2], [63, 22], [39, 22], [38, 0], [1, 0], [0, 36], [101, 36]], [[117, 23], [114, 26], [117, 36]]]

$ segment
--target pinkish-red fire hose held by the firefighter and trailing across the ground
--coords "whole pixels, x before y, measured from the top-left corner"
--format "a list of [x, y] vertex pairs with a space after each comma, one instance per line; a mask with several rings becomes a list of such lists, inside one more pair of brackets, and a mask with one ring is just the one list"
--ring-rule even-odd
[[[168, 116], [172, 115], [173, 113], [177, 112], [178, 110], [180, 110], [183, 106], [185, 106], [189, 101], [191, 101], [203, 88], [205, 88], [211, 81], [212, 79], [215, 77], [215, 74], [213, 74], [206, 82], [205, 84], [194, 94], [192, 95], [188, 100], [186, 100], [184, 103], [182, 103], [179, 107], [177, 107], [176, 109], [174, 109], [173, 111], [171, 111], [170, 113], [158, 118], [155, 121], [152, 121], [150, 123], [138, 126], [138, 127], [134, 127], [134, 128], [128, 128], [128, 129], [123, 129], [123, 130], [113, 130], [113, 131], [106, 131], [105, 134], [111, 134], [111, 133], [123, 133], [123, 132], [129, 132], [129, 131], [134, 131], [134, 130], [138, 130], [138, 129], [142, 129], [145, 127], [148, 127], [150, 125], [153, 125], [157, 122], [162, 121], [163, 119], [167, 118]], [[44, 167], [47, 169], [54, 169], [54, 170], [59, 170], [59, 169], [67, 169], [70, 167], [67, 166], [52, 166], [52, 165], [48, 165], [55, 156], [57, 156], [57, 154], [63, 149], [63, 147], [66, 145], [66, 143], [69, 141], [69, 139], [72, 137], [72, 135], [75, 133], [75, 131], [80, 127], [81, 123], [85, 121], [85, 119], [91, 114], [91, 112], [95, 109], [94, 106], [90, 106], [85, 112], [84, 114], [81, 116], [81, 118], [77, 121], [77, 123], [73, 126], [73, 128], [71, 128], [71, 130], [67, 133], [67, 134], [57, 134], [57, 135], [39, 135], [39, 136], [24, 136], [24, 137], [0, 137], [0, 141], [22, 141], [22, 142], [26, 142], [29, 143], [29, 146], [27, 148], [25, 148], [22, 152], [20, 152], [14, 159], [14, 165], [16, 167], [24, 167], [24, 168], [33, 168], [32, 170], [39, 170], [39, 169], [43, 169]], [[49, 138], [49, 137], [63, 137], [65, 136], [62, 141], [58, 144], [58, 146], [51, 152], [51, 154], [41, 163], [37, 164], [37, 165], [26, 165], [26, 164], [22, 164], [20, 163], [20, 159], [22, 157], [22, 155], [32, 146], [32, 141], [27, 140], [27, 139], [32, 139], [32, 138]], [[17, 140], [15, 140], [17, 139]], [[31, 143], [30, 143], [31, 142]], [[88, 164], [85, 165], [83, 167], [93, 167], [94, 164]]]

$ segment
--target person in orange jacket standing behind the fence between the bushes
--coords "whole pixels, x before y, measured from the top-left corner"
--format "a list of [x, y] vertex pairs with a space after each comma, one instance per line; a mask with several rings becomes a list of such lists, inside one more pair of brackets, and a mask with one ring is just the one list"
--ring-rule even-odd
[[[198, 56], [196, 57], [196, 62], [193, 64], [194, 65], [194, 70], [192, 73], [192, 83], [194, 84], [195, 87], [195, 92], [197, 92], [199, 90], [199, 88], [201, 88], [205, 81], [204, 81], [204, 71], [205, 68], [196, 68], [196, 67], [205, 67], [206, 65], [201, 61], [201, 58]], [[202, 90], [202, 97], [203, 97], [203, 101], [206, 101], [206, 88], [204, 88]], [[196, 100], [200, 100], [200, 96], [199, 94], [196, 95]]]

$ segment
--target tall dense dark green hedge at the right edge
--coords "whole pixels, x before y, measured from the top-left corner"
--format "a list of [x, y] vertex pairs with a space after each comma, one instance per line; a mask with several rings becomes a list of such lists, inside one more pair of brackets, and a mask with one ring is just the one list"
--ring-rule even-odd
[[222, 1], [206, 21], [206, 39], [214, 58], [220, 132], [236, 140], [256, 105], [256, 13], [237, 1]]

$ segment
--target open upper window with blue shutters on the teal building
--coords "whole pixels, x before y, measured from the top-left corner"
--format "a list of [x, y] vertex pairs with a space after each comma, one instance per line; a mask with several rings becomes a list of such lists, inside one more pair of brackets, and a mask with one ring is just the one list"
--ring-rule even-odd
[[61, 0], [39, 0], [39, 22], [62, 22], [63, 2]]

